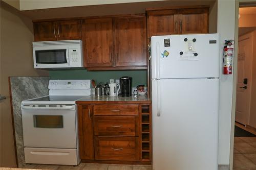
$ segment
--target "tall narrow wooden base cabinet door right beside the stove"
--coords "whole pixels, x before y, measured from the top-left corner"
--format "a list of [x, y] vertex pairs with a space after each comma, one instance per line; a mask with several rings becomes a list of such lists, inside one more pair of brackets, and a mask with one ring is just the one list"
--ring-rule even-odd
[[91, 105], [78, 105], [80, 159], [94, 159], [93, 114]]

